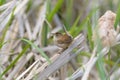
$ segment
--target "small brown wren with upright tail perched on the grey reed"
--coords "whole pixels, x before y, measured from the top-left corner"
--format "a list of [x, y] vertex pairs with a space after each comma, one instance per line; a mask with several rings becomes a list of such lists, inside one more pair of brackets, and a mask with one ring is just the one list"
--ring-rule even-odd
[[72, 36], [66, 31], [66, 28], [63, 27], [65, 34], [60, 32], [53, 33], [54, 44], [58, 47], [66, 49], [70, 43], [73, 41]]

